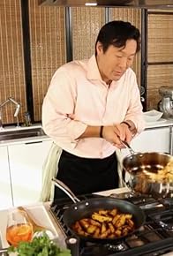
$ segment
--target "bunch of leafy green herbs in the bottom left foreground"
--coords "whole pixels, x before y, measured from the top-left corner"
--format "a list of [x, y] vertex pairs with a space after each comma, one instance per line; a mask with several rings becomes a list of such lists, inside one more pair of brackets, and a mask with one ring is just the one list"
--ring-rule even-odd
[[31, 242], [20, 242], [18, 247], [11, 246], [8, 252], [17, 252], [19, 256], [71, 256], [70, 250], [61, 249], [46, 233]]

